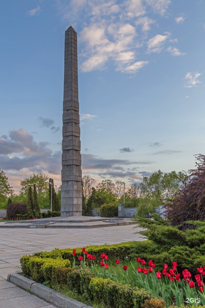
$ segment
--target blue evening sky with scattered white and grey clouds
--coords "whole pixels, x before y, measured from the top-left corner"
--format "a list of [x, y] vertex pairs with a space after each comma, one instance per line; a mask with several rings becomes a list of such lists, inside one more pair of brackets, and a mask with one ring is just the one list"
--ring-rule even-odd
[[64, 36], [78, 42], [82, 175], [127, 186], [205, 154], [204, 0], [7, 0], [0, 168], [61, 184]]

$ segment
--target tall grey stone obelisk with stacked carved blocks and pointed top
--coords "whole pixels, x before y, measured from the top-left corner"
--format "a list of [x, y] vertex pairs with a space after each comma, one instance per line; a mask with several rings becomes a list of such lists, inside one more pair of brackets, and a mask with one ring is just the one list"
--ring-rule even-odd
[[65, 31], [61, 216], [82, 215], [81, 141], [77, 75], [77, 33]]

